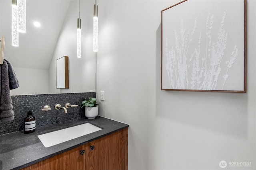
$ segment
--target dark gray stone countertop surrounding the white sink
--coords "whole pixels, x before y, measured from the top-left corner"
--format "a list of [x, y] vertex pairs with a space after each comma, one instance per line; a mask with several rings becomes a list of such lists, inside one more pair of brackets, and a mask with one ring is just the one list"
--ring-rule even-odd
[[[92, 123], [93, 125], [102, 128], [102, 130], [48, 148], [44, 147], [37, 137], [37, 135], [43, 133], [83, 123]], [[24, 134], [23, 131], [18, 131], [0, 135], [0, 170], [16, 170], [24, 168], [126, 127], [129, 127], [129, 125], [98, 116], [95, 119], [81, 118], [36, 127], [36, 131], [30, 134]]]

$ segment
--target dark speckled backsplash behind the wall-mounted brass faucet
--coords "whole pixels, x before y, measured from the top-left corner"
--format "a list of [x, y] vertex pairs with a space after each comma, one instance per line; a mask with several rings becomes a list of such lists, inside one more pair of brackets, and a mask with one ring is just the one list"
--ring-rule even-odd
[[[0, 135], [24, 130], [24, 118], [29, 110], [36, 117], [36, 127], [85, 117], [84, 109], [80, 107], [82, 100], [87, 97], [95, 98], [96, 92], [11, 96], [14, 120], [6, 123], [0, 122]], [[54, 108], [56, 104], [65, 107], [66, 103], [77, 104], [78, 107], [68, 108], [68, 113], [64, 113], [63, 109]], [[50, 106], [50, 111], [41, 110], [46, 105]]]

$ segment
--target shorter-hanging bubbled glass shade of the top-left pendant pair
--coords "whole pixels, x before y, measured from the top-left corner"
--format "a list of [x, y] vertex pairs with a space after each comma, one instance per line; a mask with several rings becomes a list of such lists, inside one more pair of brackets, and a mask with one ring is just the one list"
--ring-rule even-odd
[[26, 0], [18, 0], [18, 31], [26, 32]]

